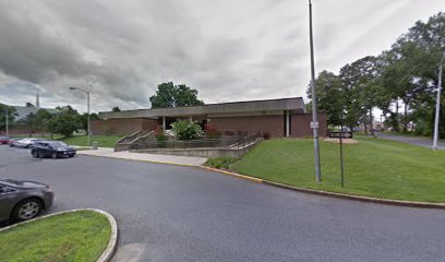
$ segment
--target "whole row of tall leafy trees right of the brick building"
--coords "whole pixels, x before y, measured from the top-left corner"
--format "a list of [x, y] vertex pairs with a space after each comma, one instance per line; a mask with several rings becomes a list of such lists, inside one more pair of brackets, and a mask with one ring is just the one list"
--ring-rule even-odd
[[[315, 80], [320, 110], [330, 126], [372, 127], [373, 110], [385, 115], [385, 127], [431, 135], [434, 124], [438, 66], [445, 63], [445, 13], [418, 21], [380, 56], [344, 66], [339, 73], [321, 72]], [[311, 88], [308, 88], [311, 98]], [[444, 94], [442, 94], [442, 100]], [[401, 110], [399, 109], [401, 107]], [[308, 107], [310, 109], [310, 107]], [[442, 136], [445, 107], [441, 106]], [[371, 128], [373, 131], [373, 129]]]

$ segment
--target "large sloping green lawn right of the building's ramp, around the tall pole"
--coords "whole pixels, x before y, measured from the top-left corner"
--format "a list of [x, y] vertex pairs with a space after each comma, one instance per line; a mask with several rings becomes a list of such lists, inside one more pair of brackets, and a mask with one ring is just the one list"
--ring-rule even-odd
[[238, 172], [280, 183], [384, 199], [445, 202], [445, 151], [359, 138], [345, 145], [345, 188], [338, 144], [321, 141], [315, 182], [313, 140], [267, 140], [233, 164]]

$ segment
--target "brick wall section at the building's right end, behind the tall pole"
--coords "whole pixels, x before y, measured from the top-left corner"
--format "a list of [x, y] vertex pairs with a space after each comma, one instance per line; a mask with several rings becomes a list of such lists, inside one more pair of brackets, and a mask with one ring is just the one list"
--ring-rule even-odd
[[[327, 118], [325, 112], [318, 112], [318, 135], [320, 136], [327, 136]], [[305, 136], [313, 136], [312, 129], [312, 114], [298, 114], [292, 115], [290, 120], [291, 132], [290, 135], [292, 138], [305, 138]]]

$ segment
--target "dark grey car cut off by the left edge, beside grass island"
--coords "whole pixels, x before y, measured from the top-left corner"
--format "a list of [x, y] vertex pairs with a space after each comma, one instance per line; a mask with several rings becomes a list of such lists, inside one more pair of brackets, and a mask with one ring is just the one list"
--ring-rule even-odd
[[27, 221], [52, 205], [52, 190], [44, 183], [0, 179], [0, 221]]

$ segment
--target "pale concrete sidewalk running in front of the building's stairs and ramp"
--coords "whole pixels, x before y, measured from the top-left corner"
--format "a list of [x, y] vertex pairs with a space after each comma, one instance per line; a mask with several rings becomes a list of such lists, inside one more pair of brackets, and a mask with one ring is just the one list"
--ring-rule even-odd
[[205, 157], [194, 157], [194, 156], [176, 156], [176, 155], [155, 155], [145, 153], [131, 153], [128, 151], [115, 152], [113, 148], [101, 147], [98, 150], [86, 150], [79, 151], [79, 155], [88, 156], [103, 156], [119, 159], [129, 160], [145, 160], [154, 163], [165, 163], [165, 164], [176, 164], [176, 165], [188, 165], [188, 166], [201, 166], [207, 158]]

